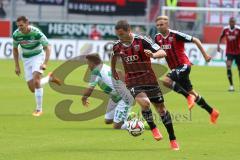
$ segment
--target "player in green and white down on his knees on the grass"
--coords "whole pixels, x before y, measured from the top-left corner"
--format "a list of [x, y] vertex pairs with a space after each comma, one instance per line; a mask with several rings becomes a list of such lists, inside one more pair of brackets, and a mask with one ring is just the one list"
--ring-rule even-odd
[[[121, 81], [113, 81], [111, 68], [102, 63], [98, 54], [87, 55], [86, 59], [91, 70], [91, 77], [89, 87], [83, 92], [82, 104], [88, 106], [88, 97], [98, 85], [110, 97], [105, 114], [105, 123], [113, 123], [115, 129], [127, 129], [126, 121], [134, 101], [133, 97], [124, 90], [126, 87]], [[119, 90], [117, 91], [115, 87], [118, 87]]]

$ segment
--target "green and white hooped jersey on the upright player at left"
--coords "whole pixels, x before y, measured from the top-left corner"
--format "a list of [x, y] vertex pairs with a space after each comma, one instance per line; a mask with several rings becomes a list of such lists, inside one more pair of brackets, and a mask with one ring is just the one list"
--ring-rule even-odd
[[47, 37], [36, 27], [29, 26], [30, 32], [23, 34], [18, 29], [13, 33], [13, 47], [22, 48], [22, 56], [29, 58], [40, 54], [44, 46], [48, 46]]

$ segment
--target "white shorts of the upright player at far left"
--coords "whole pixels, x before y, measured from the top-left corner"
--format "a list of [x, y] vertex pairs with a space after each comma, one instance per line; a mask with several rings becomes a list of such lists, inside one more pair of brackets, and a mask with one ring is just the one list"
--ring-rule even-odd
[[25, 80], [27, 82], [33, 79], [33, 72], [39, 72], [43, 74], [43, 70], [40, 69], [40, 66], [43, 64], [44, 59], [45, 54], [43, 52], [30, 58], [22, 57]]

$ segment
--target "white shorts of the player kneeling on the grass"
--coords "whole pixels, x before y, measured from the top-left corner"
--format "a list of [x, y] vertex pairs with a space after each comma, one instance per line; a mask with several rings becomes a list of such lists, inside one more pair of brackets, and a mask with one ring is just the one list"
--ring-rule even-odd
[[113, 119], [115, 123], [124, 122], [127, 120], [130, 110], [131, 106], [123, 100], [115, 103], [112, 99], [109, 99], [105, 119]]

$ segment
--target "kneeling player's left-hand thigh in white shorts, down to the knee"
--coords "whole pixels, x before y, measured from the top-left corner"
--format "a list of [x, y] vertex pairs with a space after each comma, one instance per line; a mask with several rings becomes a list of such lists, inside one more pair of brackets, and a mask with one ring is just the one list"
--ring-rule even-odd
[[112, 124], [114, 113], [116, 109], [117, 103], [115, 103], [111, 98], [108, 101], [106, 114], [105, 114], [105, 124]]

